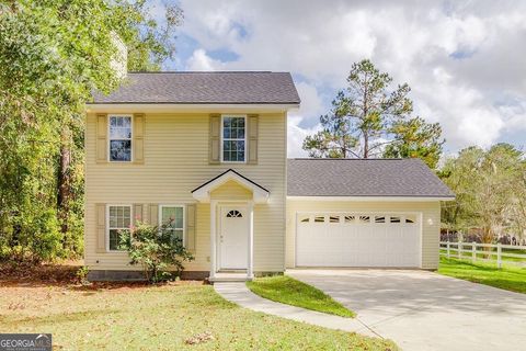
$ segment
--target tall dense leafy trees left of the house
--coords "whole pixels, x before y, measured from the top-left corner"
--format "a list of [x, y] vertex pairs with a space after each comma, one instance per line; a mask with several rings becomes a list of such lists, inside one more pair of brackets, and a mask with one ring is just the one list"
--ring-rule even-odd
[[115, 35], [132, 69], [158, 69], [170, 31], [145, 1], [0, 3], [0, 258], [81, 253], [84, 103], [121, 83]]

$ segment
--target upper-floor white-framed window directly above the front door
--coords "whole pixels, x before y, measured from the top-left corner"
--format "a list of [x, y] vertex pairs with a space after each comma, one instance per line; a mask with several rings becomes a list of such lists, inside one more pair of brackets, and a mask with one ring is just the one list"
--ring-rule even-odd
[[222, 161], [244, 162], [245, 157], [245, 117], [222, 116]]

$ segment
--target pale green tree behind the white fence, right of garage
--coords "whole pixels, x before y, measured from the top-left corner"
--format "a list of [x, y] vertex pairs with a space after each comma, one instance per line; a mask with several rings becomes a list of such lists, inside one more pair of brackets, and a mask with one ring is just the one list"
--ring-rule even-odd
[[477, 228], [483, 242], [524, 236], [525, 171], [524, 154], [510, 144], [469, 147], [447, 159], [439, 177], [456, 200], [443, 206], [444, 226]]

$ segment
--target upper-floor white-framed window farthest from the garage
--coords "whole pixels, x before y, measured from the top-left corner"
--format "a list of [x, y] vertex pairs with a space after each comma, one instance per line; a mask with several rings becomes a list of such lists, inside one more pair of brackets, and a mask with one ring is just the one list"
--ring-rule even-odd
[[110, 116], [110, 161], [132, 161], [132, 116]]

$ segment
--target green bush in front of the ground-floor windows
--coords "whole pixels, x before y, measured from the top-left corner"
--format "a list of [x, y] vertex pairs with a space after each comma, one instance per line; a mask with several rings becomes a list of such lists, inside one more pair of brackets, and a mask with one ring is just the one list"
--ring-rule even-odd
[[121, 233], [121, 249], [128, 251], [132, 264], [140, 264], [151, 283], [181, 275], [183, 262], [194, 257], [174, 237], [169, 226], [151, 226], [144, 223]]

